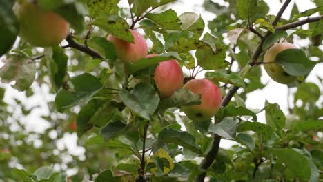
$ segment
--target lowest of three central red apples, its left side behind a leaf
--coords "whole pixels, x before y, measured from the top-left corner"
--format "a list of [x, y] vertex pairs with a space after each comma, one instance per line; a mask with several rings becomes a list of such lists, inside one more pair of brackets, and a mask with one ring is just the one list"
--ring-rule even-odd
[[221, 92], [217, 85], [208, 79], [193, 79], [188, 81], [184, 88], [195, 94], [201, 94], [200, 105], [182, 106], [182, 111], [193, 121], [211, 119], [221, 108]]

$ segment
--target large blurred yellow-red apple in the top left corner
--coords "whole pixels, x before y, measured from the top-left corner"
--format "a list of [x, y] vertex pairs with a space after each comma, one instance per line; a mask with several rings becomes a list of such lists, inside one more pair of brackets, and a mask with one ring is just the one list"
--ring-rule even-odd
[[14, 5], [19, 34], [31, 45], [48, 47], [66, 39], [69, 24], [52, 11], [41, 10], [35, 3], [23, 1]]

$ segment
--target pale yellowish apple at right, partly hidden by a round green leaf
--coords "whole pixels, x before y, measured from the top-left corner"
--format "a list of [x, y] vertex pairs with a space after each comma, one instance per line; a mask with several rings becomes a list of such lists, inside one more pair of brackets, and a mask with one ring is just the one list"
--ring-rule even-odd
[[267, 74], [271, 79], [282, 84], [292, 83], [297, 79], [297, 77], [293, 77], [285, 72], [281, 65], [274, 62], [277, 54], [286, 49], [297, 49], [297, 47], [291, 43], [277, 43], [269, 48], [264, 55], [263, 65]]

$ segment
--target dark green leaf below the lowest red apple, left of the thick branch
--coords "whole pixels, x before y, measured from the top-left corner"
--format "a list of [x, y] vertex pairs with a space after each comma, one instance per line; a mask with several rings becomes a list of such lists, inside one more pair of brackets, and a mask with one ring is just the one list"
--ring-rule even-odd
[[158, 141], [181, 145], [183, 148], [187, 148], [197, 154], [202, 154], [201, 148], [199, 148], [199, 145], [195, 143], [194, 136], [188, 132], [164, 128], [161, 130], [161, 132], [159, 132]]

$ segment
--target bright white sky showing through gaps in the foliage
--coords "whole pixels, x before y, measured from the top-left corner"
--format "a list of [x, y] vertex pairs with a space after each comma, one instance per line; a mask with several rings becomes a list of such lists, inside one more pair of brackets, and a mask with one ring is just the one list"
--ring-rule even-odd
[[[264, 0], [264, 1], [268, 3], [268, 6], [270, 6], [269, 14], [277, 14], [280, 6], [282, 5], [282, 3], [280, 3], [279, 0]], [[204, 21], [212, 20], [215, 17], [215, 15], [210, 12], [206, 12], [202, 8], [203, 2], [204, 1], [202, 0], [196, 0], [196, 1], [182, 0], [182, 1], [179, 1], [178, 3], [173, 4], [171, 8], [173, 8], [173, 10], [177, 12], [177, 14], [182, 14], [183, 12], [190, 11], [190, 12], [195, 12], [197, 14], [202, 14], [202, 18], [204, 19]], [[297, 3], [300, 12], [315, 7], [315, 4], [309, 0], [296, 0], [295, 2]], [[121, 0], [120, 5], [128, 7], [128, 3], [126, 3], [126, 0]], [[282, 15], [283, 18], [288, 19], [292, 7], [293, 7], [293, 3], [291, 3], [290, 6], [288, 6], [288, 8], [286, 9], [286, 12]], [[301, 43], [301, 45], [304, 45], [309, 43], [309, 40], [302, 40], [295, 44], [298, 45], [299, 43]], [[2, 65], [3, 63], [0, 63], [0, 66]], [[320, 75], [320, 77], [323, 78], [322, 70], [323, 70], [322, 64], [315, 66], [314, 70], [311, 72], [311, 74], [309, 75], [308, 79], [306, 79], [306, 81], [319, 83], [316, 76]], [[251, 94], [248, 94], [248, 99], [246, 99], [246, 107], [254, 108], [254, 109], [262, 109], [264, 107], [264, 101], [267, 100], [271, 103], [278, 103], [280, 105], [280, 108], [286, 114], [287, 113], [287, 99], [286, 99], [287, 86], [282, 85], [280, 83], [276, 83], [275, 81], [271, 81], [271, 79], [268, 77], [266, 72], [264, 72], [264, 70], [263, 70], [263, 73], [264, 74], [262, 76], [262, 83], [268, 83], [268, 85], [266, 86], [266, 88], [262, 90], [257, 90], [255, 92], [252, 92]], [[28, 105], [28, 108], [40, 105], [40, 107], [33, 110], [28, 117], [24, 117], [22, 119], [23, 123], [26, 124], [28, 130], [41, 132], [43, 131], [44, 128], [47, 128], [49, 126], [49, 123], [47, 121], [39, 117], [41, 114], [49, 113], [47, 102], [53, 101], [55, 99], [54, 95], [48, 94], [49, 88], [47, 85], [43, 85], [41, 88], [35, 86], [35, 84], [32, 85], [32, 88], [34, 88], [35, 90], [35, 94], [34, 96], [28, 99], [24, 96], [23, 92], [18, 92], [17, 90], [12, 89], [10, 85], [2, 84], [2, 83], [0, 83], [0, 85], [6, 88], [5, 101], [7, 103], [14, 104], [13, 99], [15, 98], [23, 101], [23, 103]], [[295, 88], [293, 88], [291, 91], [292, 93], [295, 92]], [[11, 108], [11, 110], [13, 109], [14, 108]], [[17, 117], [19, 117], [19, 113], [16, 113], [16, 114], [17, 114]], [[264, 122], [264, 112], [262, 112], [261, 114], [258, 114], [258, 118], [261, 122]], [[77, 148], [77, 146], [75, 145], [76, 141], [77, 141], [76, 134], [68, 134], [66, 135], [63, 141], [59, 142], [60, 143], [59, 145], [61, 146], [65, 145], [65, 147], [68, 148], [70, 152], [73, 152], [76, 155], [83, 154], [84, 150], [82, 148], [79, 148], [79, 150], [75, 150], [75, 148]], [[222, 140], [221, 147], [228, 148], [230, 143], [232, 142]]]

